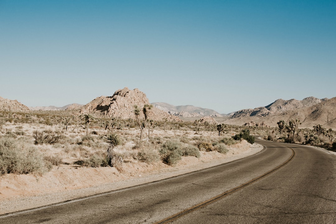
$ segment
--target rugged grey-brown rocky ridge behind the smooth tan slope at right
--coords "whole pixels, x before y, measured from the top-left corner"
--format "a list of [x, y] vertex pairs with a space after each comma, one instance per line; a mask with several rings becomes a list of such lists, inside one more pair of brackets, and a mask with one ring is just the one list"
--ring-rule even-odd
[[267, 117], [271, 115], [277, 115], [284, 113], [286, 111], [291, 111], [295, 109], [300, 109], [300, 108], [306, 108], [310, 107], [316, 104], [319, 104], [323, 101], [327, 100], [325, 99], [318, 99], [315, 97], [307, 97], [304, 98], [303, 100], [283, 100], [279, 99], [276, 100], [275, 102], [265, 106], [265, 107], [257, 107], [254, 109], [244, 109], [244, 110], [239, 110], [236, 113], [234, 113], [231, 118], [238, 118], [238, 117]]

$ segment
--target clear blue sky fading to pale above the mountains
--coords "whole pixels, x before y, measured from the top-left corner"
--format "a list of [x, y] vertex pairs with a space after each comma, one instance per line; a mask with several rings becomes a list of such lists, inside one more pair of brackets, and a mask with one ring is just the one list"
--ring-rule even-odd
[[0, 0], [0, 96], [149, 101], [229, 113], [336, 97], [335, 0]]

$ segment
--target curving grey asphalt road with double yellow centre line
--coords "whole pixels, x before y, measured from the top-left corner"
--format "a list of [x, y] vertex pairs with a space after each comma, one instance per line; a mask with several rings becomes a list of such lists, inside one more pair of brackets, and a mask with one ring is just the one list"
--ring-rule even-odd
[[2, 215], [0, 223], [336, 223], [336, 156], [257, 142], [265, 150], [247, 158]]

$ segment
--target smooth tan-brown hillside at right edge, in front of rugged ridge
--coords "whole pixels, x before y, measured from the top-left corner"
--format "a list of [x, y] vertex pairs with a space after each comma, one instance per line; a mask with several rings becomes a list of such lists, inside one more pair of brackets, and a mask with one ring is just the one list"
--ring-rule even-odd
[[[306, 98], [305, 98], [306, 99]], [[310, 102], [311, 103], [311, 102]], [[300, 127], [313, 127], [317, 124], [325, 128], [336, 128], [336, 97], [322, 99], [320, 103], [299, 109], [287, 110], [285, 112], [269, 116], [245, 116], [231, 118], [225, 121], [228, 124], [244, 125], [248, 122], [264, 123], [268, 126], [277, 126], [279, 120], [286, 123], [290, 119], [299, 119], [302, 124]]]

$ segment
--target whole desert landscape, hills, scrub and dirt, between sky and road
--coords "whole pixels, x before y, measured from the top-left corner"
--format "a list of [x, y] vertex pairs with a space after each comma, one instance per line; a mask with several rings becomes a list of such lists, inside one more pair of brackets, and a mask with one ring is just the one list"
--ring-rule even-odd
[[150, 104], [143, 92], [128, 88], [64, 107], [28, 108], [0, 97], [1, 213], [252, 155], [262, 147], [250, 134], [336, 151], [335, 130], [336, 98], [279, 99], [220, 114]]

